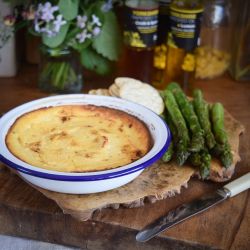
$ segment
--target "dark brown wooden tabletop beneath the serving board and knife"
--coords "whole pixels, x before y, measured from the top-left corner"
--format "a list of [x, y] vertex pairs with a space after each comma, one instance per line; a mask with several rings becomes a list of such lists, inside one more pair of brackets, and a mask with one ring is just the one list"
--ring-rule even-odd
[[[108, 83], [86, 79], [84, 91]], [[110, 82], [109, 82], [110, 83]], [[228, 76], [198, 81], [206, 100], [222, 102], [246, 128], [240, 139], [241, 162], [233, 178], [250, 170], [250, 82]], [[0, 112], [47, 96], [37, 88], [37, 67], [23, 66], [15, 78], [0, 78]], [[0, 128], [1, 129], [1, 128]], [[192, 179], [180, 195], [141, 208], [103, 209], [91, 221], [77, 221], [63, 214], [52, 200], [0, 168], [0, 233], [78, 246], [83, 249], [249, 249], [250, 196], [245, 191], [216, 207], [179, 224], [160, 236], [138, 243], [139, 229], [183, 202], [211, 192], [223, 184]], [[1, 248], [1, 247], [0, 247]]]

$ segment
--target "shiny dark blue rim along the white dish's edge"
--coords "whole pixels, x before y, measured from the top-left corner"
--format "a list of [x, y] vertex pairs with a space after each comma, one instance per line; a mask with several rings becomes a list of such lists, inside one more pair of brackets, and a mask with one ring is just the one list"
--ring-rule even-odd
[[57, 174], [49, 174], [49, 173], [43, 173], [43, 172], [39, 172], [39, 171], [35, 171], [32, 169], [28, 169], [26, 167], [22, 167], [10, 160], [8, 160], [7, 158], [5, 158], [3, 155], [0, 154], [0, 161], [2, 161], [4, 164], [8, 165], [9, 167], [22, 172], [24, 174], [28, 174], [28, 175], [32, 175], [35, 177], [40, 177], [43, 179], [50, 179], [50, 180], [57, 180], [57, 181], [100, 181], [100, 180], [106, 180], [106, 179], [111, 179], [111, 178], [116, 178], [116, 177], [121, 177], [124, 175], [128, 175], [128, 174], [132, 174], [134, 172], [137, 172], [139, 170], [145, 169], [148, 166], [150, 166], [151, 164], [153, 164], [155, 161], [157, 161], [159, 158], [161, 158], [163, 156], [163, 154], [166, 152], [166, 150], [168, 149], [170, 142], [172, 140], [171, 137], [171, 133], [169, 130], [169, 127], [167, 126], [166, 122], [162, 119], [162, 121], [164, 122], [166, 129], [167, 129], [167, 140], [164, 144], [164, 146], [162, 147], [162, 149], [156, 153], [152, 158], [150, 158], [149, 160], [140, 163], [139, 165], [133, 166], [131, 168], [128, 169], [124, 169], [124, 170], [120, 170], [117, 172], [112, 172], [112, 173], [106, 173], [106, 174], [94, 174], [94, 175], [88, 175], [88, 176], [69, 176], [69, 175], [57, 175]]

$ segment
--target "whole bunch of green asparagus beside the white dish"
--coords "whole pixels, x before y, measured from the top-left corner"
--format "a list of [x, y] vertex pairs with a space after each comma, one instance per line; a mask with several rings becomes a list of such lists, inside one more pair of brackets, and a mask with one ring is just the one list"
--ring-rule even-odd
[[199, 168], [202, 179], [210, 176], [212, 156], [219, 158], [224, 167], [231, 166], [233, 157], [224, 127], [223, 105], [209, 105], [199, 89], [193, 91], [191, 101], [175, 82], [161, 95], [166, 106], [164, 119], [172, 134], [162, 160], [175, 158], [180, 166], [189, 162]]

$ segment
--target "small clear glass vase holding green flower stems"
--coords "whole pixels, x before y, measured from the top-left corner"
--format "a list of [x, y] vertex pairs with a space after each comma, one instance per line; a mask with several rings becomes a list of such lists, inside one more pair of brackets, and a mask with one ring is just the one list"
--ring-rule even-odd
[[82, 67], [78, 56], [68, 49], [41, 47], [38, 84], [48, 93], [81, 92]]

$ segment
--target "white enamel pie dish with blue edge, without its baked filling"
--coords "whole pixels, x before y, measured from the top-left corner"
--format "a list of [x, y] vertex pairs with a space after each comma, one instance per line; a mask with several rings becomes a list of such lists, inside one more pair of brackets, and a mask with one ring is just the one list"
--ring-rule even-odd
[[[149, 128], [153, 138], [152, 149], [142, 158], [126, 166], [89, 173], [66, 173], [38, 168], [21, 161], [8, 150], [5, 137], [19, 116], [39, 108], [67, 104], [106, 106], [138, 117]], [[108, 96], [72, 94], [46, 97], [18, 106], [0, 119], [0, 160], [10, 168], [17, 170], [25, 181], [61, 193], [97, 193], [125, 185], [157, 161], [168, 148], [170, 141], [171, 135], [168, 126], [153, 111], [142, 105]]]

